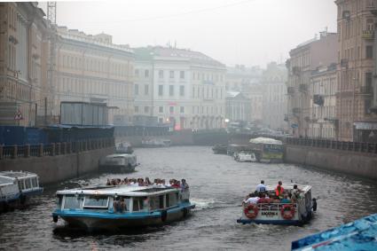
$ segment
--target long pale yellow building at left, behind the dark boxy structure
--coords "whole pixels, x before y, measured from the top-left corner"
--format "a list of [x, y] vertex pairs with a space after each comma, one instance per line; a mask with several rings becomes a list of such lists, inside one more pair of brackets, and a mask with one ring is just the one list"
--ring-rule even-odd
[[109, 122], [130, 122], [133, 115], [134, 52], [106, 34], [86, 35], [57, 27], [54, 109], [61, 101], [106, 103]]

